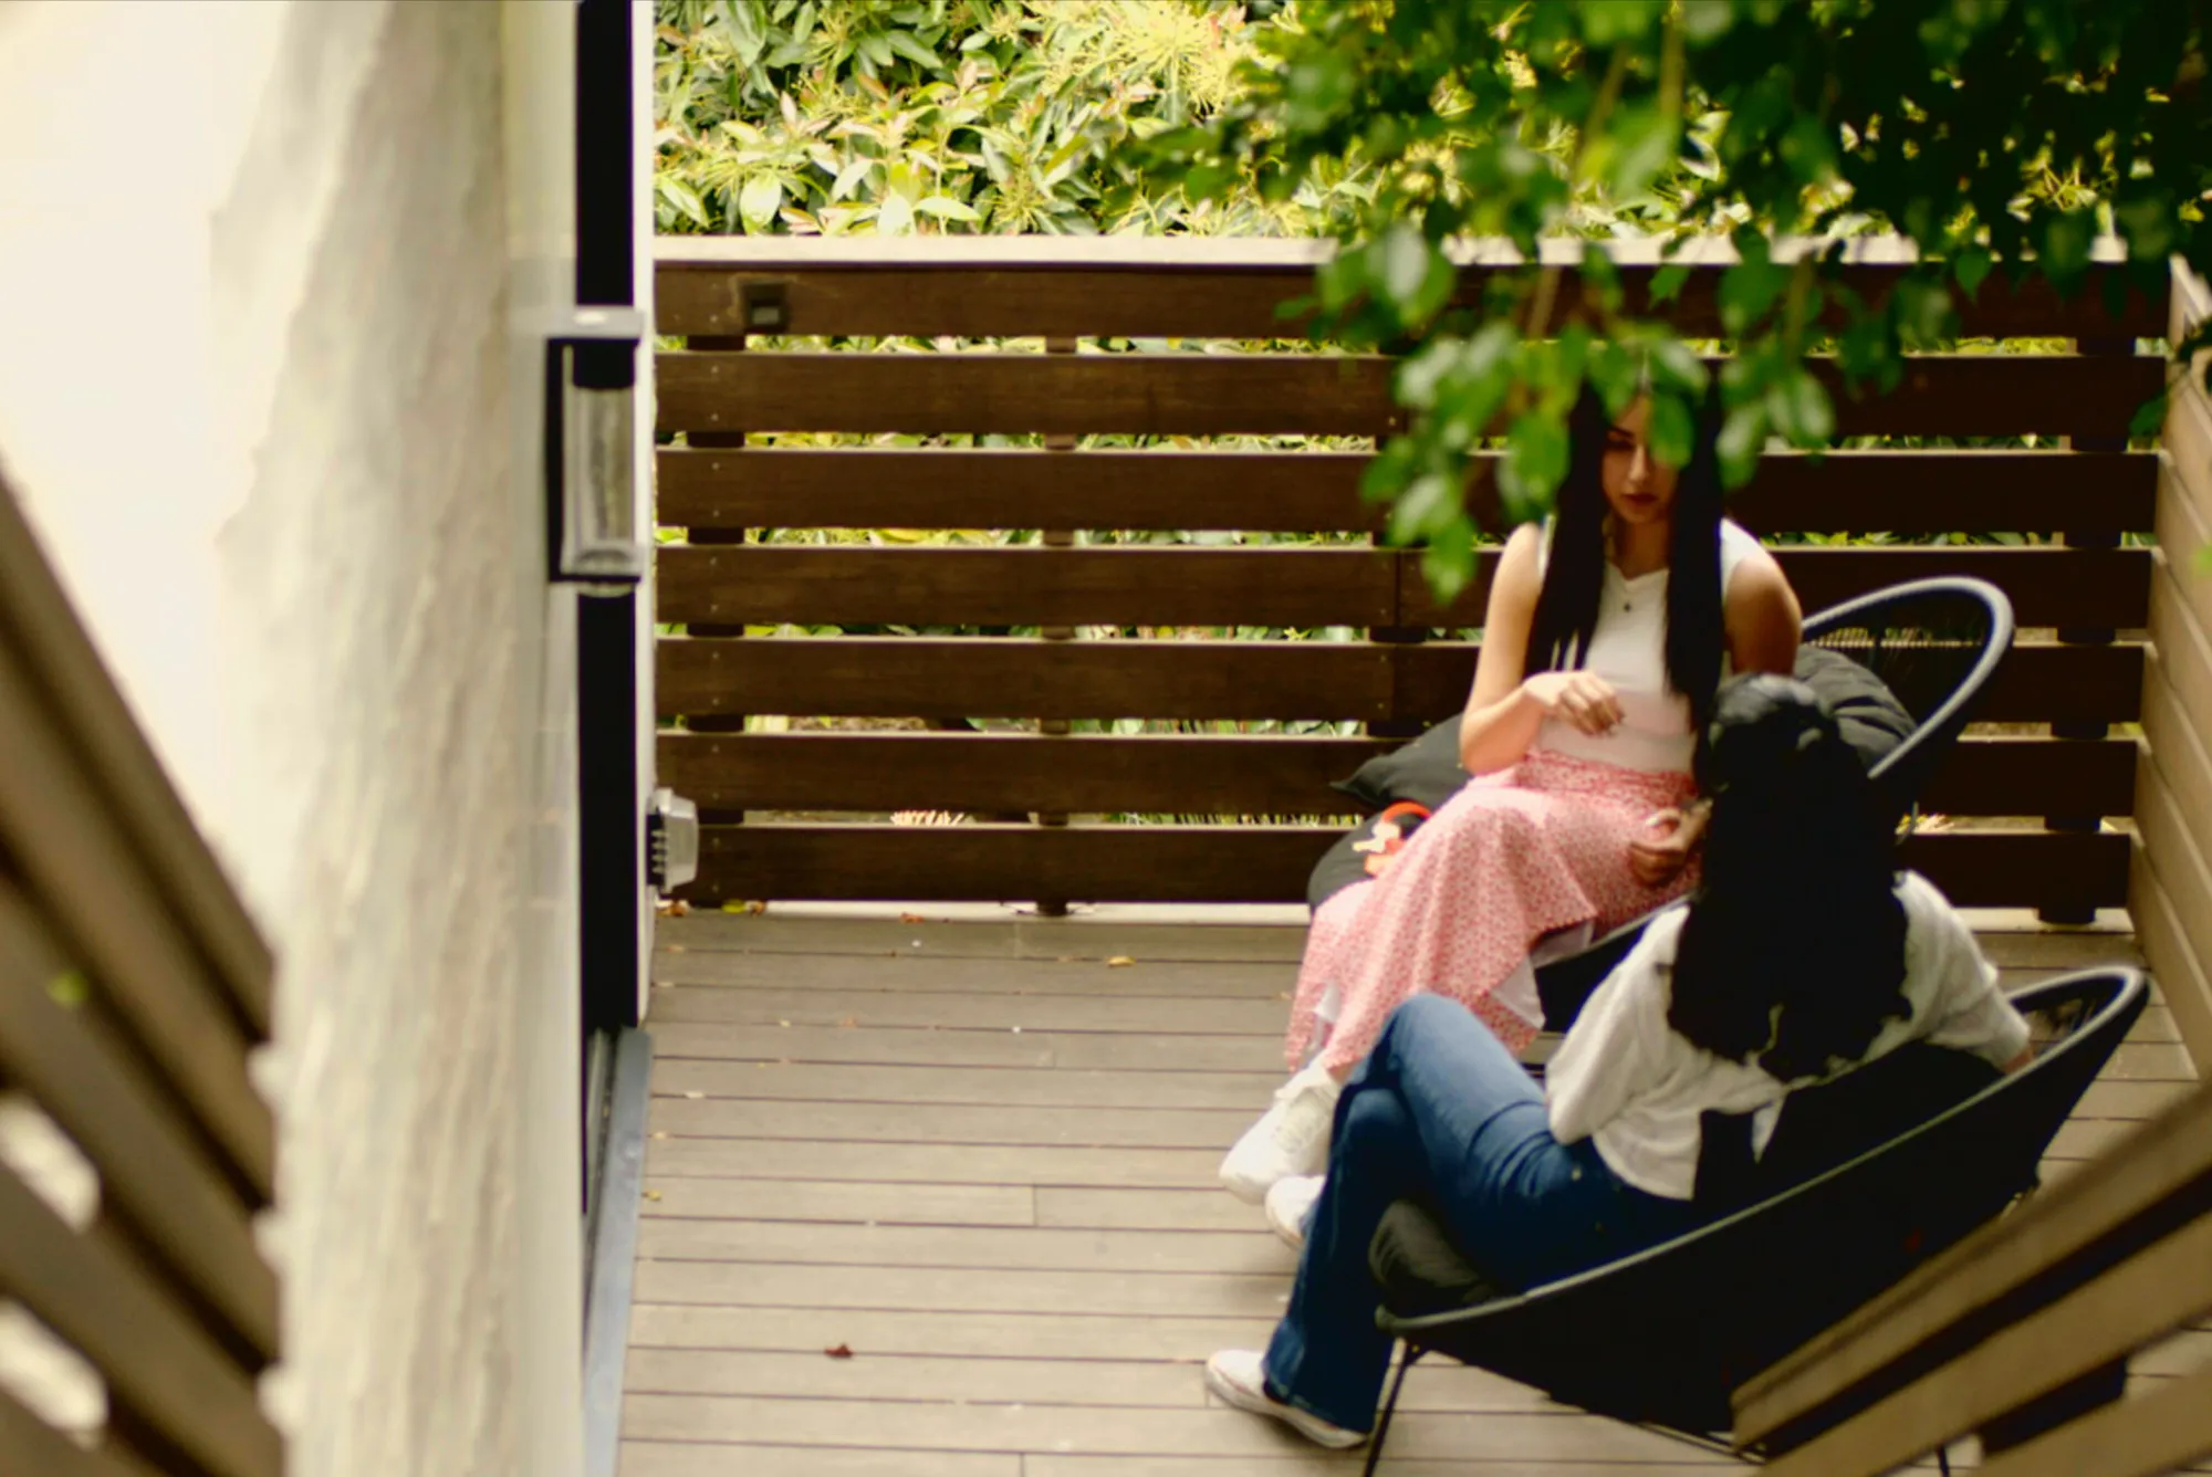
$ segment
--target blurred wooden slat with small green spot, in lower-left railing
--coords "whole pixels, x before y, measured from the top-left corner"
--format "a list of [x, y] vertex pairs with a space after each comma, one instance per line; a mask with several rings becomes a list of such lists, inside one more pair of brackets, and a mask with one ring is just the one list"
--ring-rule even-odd
[[31, 1094], [100, 1170], [122, 1214], [192, 1289], [276, 1358], [276, 1278], [246, 1205], [168, 1117], [166, 1097], [46, 991], [66, 973], [22, 895], [0, 878], [0, 1079]]

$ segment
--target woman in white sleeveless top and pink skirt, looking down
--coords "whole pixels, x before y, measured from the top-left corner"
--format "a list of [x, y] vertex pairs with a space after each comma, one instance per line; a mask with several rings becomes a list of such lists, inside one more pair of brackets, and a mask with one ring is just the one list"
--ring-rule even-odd
[[[1513, 1050], [1542, 1008], [1531, 949], [1575, 949], [1668, 902], [1703, 829], [1692, 734], [1721, 672], [1787, 672], [1798, 606], [1721, 517], [1708, 416], [1679, 473], [1652, 407], [1584, 394], [1557, 517], [1522, 526], [1491, 582], [1460, 725], [1475, 778], [1371, 882], [1314, 913], [1285, 1057], [1296, 1072], [1221, 1163], [1261, 1201], [1327, 1159], [1338, 1083], [1409, 995], [1449, 995]], [[1314, 1059], [1298, 1070], [1307, 1050]]]

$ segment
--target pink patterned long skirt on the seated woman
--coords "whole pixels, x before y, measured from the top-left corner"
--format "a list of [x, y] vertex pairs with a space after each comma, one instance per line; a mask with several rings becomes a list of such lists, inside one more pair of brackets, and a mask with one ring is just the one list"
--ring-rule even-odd
[[1628, 842], [1688, 774], [1624, 769], [1548, 750], [1469, 781], [1371, 882], [1314, 911], [1283, 1055], [1296, 1070], [1314, 1041], [1343, 1072], [1374, 1046], [1409, 995], [1449, 995], [1511, 1050], [1542, 1026], [1531, 949], [1562, 931], [1606, 933], [1690, 889], [1694, 871], [1644, 887]]

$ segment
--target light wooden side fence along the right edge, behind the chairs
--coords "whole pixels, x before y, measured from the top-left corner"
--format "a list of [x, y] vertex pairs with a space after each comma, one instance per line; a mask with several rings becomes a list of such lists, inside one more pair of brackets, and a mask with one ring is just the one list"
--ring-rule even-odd
[[[2212, 318], [2212, 292], [2174, 276], [2172, 334]], [[2128, 909], [2174, 1024], [2212, 1077], [2212, 402], [2197, 374], [2166, 405], [2159, 548], [2150, 579], [2143, 761]]]

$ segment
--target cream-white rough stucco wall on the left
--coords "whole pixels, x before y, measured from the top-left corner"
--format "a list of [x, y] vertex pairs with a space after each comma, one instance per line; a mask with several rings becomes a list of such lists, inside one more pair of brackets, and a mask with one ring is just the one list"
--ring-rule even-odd
[[0, 464], [279, 955], [294, 1477], [573, 1470], [571, 18], [0, 4]]

